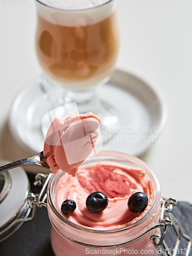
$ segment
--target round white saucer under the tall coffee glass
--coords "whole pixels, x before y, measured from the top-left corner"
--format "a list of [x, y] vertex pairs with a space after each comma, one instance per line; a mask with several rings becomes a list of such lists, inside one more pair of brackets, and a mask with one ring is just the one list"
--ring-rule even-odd
[[[163, 132], [167, 108], [164, 98], [153, 85], [125, 71], [116, 70], [108, 83], [99, 89], [101, 98], [108, 101], [122, 117], [121, 128], [103, 150], [115, 150], [140, 156]], [[53, 91], [54, 94], [54, 91]], [[9, 117], [9, 129], [15, 141], [30, 154], [43, 150], [44, 136], [39, 132], [41, 116], [50, 108], [48, 99], [37, 78], [30, 81], [17, 95]], [[35, 113], [35, 116], [34, 116]], [[34, 119], [31, 125], [31, 119]], [[30, 124], [30, 125], [29, 125]]]

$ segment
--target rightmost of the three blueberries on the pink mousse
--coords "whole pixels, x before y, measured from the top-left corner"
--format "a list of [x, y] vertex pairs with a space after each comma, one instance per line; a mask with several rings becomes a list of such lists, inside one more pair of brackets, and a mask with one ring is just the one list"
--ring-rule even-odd
[[148, 197], [143, 192], [136, 192], [134, 193], [127, 205], [128, 208], [135, 213], [142, 212], [147, 207], [148, 204]]

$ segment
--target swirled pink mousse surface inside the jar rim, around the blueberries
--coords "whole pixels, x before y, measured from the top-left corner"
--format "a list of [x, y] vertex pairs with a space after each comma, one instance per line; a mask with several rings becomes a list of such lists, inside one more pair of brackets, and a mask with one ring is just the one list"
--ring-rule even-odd
[[[92, 213], [86, 207], [87, 197], [101, 191], [108, 199], [108, 206], [102, 211]], [[130, 196], [143, 192], [148, 197], [148, 205], [143, 212], [134, 213], [127, 207]], [[64, 215], [75, 224], [92, 229], [110, 230], [129, 226], [141, 219], [153, 202], [153, 187], [145, 178], [142, 169], [120, 165], [96, 164], [79, 168], [76, 177], [63, 175], [56, 189], [56, 205], [60, 209], [63, 201], [76, 202], [76, 209]]]

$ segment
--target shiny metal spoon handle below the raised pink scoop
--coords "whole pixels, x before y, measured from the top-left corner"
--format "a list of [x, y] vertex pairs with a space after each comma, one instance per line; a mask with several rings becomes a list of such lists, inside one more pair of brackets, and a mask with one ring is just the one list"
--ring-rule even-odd
[[21, 159], [0, 167], [0, 174], [5, 172], [6, 170], [16, 168], [18, 166], [24, 166], [24, 165], [38, 165], [40, 167], [49, 169], [49, 165], [47, 164], [46, 159], [47, 157], [44, 157], [44, 152], [42, 151], [36, 156]]

